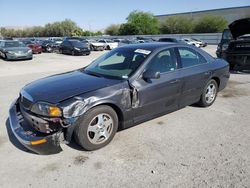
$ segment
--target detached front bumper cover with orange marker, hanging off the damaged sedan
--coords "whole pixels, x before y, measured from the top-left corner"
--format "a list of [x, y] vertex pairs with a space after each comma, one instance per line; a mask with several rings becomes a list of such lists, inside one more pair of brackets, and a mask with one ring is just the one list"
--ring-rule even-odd
[[9, 110], [9, 120], [13, 134], [27, 149], [41, 155], [56, 154], [62, 151], [60, 147], [62, 132], [44, 134], [36, 131], [24, 119], [17, 102], [13, 103]]

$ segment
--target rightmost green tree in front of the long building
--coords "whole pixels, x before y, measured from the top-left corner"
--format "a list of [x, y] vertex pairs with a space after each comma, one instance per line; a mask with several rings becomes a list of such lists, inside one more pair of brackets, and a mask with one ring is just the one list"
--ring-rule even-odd
[[222, 32], [228, 22], [222, 16], [204, 16], [194, 24], [195, 33], [217, 33]]

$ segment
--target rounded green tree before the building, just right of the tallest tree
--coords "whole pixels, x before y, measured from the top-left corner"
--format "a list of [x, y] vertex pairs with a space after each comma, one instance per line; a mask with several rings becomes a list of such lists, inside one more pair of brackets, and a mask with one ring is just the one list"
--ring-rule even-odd
[[183, 16], [173, 16], [160, 24], [160, 31], [163, 34], [192, 33], [193, 20]]

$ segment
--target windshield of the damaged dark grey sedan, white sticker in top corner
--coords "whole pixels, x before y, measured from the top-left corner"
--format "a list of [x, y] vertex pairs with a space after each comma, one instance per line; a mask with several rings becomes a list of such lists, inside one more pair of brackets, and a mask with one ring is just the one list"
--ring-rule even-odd
[[151, 51], [143, 49], [116, 49], [95, 60], [85, 72], [103, 77], [127, 79], [150, 53]]

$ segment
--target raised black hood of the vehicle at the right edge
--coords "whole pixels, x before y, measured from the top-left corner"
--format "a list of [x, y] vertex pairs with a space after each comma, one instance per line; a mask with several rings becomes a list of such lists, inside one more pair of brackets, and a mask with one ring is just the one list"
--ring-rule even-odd
[[236, 20], [228, 27], [234, 39], [237, 39], [238, 37], [245, 34], [250, 34], [250, 18]]

